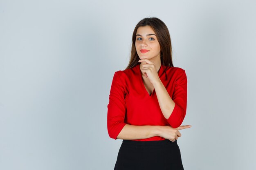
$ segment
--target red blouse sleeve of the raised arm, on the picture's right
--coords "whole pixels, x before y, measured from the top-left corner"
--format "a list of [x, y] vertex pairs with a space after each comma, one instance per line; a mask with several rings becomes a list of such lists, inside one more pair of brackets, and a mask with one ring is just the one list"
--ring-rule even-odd
[[175, 103], [175, 106], [171, 116], [167, 119], [167, 121], [173, 128], [177, 128], [182, 124], [182, 121], [186, 115], [187, 77], [184, 70], [179, 75], [179, 77], [177, 77], [172, 99]]

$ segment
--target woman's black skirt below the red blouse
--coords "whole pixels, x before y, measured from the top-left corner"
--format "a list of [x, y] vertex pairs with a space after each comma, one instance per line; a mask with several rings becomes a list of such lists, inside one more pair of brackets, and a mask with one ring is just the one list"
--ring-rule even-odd
[[123, 140], [114, 170], [184, 170], [177, 140]]

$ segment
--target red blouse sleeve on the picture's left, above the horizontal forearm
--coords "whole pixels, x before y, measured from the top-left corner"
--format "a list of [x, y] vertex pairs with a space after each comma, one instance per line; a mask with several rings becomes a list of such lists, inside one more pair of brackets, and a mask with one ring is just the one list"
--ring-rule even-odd
[[113, 76], [108, 103], [107, 126], [110, 138], [116, 140], [120, 131], [126, 125], [124, 123], [125, 114], [126, 103], [124, 86], [122, 86], [121, 79], [116, 71]]

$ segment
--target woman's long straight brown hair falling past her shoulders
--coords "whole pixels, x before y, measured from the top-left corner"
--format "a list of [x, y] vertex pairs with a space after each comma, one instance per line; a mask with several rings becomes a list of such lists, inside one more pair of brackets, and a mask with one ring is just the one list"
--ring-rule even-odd
[[[153, 31], [155, 31], [157, 40], [160, 45], [161, 49], [161, 63], [164, 66], [171, 66], [173, 67], [173, 60], [172, 60], [172, 46], [171, 46], [171, 37], [170, 33], [168, 31], [168, 28], [166, 24], [162, 20], [156, 17], [150, 17], [150, 18], [144, 18], [141, 21], [138, 22], [138, 24], [135, 26], [135, 29], [132, 33], [132, 49], [131, 49], [131, 55], [130, 55], [130, 62], [126, 69], [132, 68], [134, 66], [137, 66], [139, 64], [139, 55], [137, 54], [136, 48], [135, 48], [135, 41], [136, 41], [136, 32], [137, 29], [140, 26], [151, 26]], [[164, 67], [165, 71], [165, 67]], [[167, 75], [166, 75], [167, 78]]]

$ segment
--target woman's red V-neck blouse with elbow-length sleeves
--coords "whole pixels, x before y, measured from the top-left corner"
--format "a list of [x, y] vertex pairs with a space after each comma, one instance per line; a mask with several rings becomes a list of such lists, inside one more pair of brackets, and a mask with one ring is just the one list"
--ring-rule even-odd
[[[166, 68], [166, 74], [164, 73]], [[167, 79], [166, 79], [167, 75]], [[108, 135], [117, 139], [119, 132], [126, 124], [159, 125], [177, 128], [186, 115], [187, 77], [185, 70], [179, 67], [161, 65], [158, 76], [175, 107], [171, 116], [166, 119], [160, 109], [155, 89], [148, 94], [143, 83], [139, 64], [124, 71], [116, 71], [110, 88], [107, 127]], [[134, 141], [157, 141], [163, 137], [155, 136]]]

